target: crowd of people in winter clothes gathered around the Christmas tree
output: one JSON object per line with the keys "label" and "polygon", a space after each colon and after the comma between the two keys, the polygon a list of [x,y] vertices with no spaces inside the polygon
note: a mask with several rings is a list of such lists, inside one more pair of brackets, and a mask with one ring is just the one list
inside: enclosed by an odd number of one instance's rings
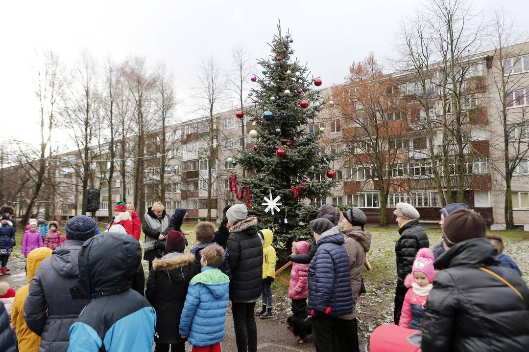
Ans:
{"label": "crowd of people in winter clothes gathered around the Christmas tree", "polygon": [[[15,222],[11,207],[0,212],[5,275]],[[416,208],[398,203],[394,215],[394,323],[403,334],[422,331],[426,352],[526,351],[529,291],[481,215],[460,203],[442,208],[443,241],[433,251]],[[31,219],[21,249],[29,283],[16,293],[0,284],[0,350],[183,352],[187,341],[193,351],[221,351],[231,301],[237,350],[256,351],[256,317],[274,315],[273,231],[235,204],[224,208],[218,230],[198,223],[197,243],[186,251],[186,217],[187,210],[169,216],[156,202],[140,221],[132,204],[120,202],[105,232],[79,215],[66,222],[66,237],[43,214]],[[372,239],[366,214],[325,204],[305,223],[312,243],[294,242],[288,257],[287,327],[299,343],[312,335],[318,352],[359,351],[355,305],[366,292],[362,268]]]}

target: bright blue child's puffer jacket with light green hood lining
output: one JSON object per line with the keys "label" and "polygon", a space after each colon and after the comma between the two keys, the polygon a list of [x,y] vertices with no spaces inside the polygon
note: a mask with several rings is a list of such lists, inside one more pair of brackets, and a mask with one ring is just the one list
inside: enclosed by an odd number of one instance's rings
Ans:
{"label": "bright blue child's puffer jacket with light green hood lining", "polygon": [[217,268],[203,267],[189,282],[186,303],[180,316],[180,335],[197,347],[224,340],[230,279]]}

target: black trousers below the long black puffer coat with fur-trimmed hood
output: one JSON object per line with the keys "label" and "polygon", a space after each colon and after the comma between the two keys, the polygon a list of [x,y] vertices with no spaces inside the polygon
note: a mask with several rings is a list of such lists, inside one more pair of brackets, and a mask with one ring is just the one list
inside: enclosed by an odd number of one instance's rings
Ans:
{"label": "black trousers below the long black puffer coat with fur-trimmed hood", "polygon": [[238,352],[257,351],[256,302],[232,302],[233,326]]}

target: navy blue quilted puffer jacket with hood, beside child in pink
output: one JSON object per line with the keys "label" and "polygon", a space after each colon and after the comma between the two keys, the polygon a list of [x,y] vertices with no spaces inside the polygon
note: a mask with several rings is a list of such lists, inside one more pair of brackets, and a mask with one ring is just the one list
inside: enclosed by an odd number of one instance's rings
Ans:
{"label": "navy blue quilted puffer jacket with hood, beside child in pink", "polygon": [[329,315],[333,317],[352,313],[349,257],[343,243],[344,237],[338,226],[318,238],[318,250],[308,265],[309,311],[324,312],[331,307]]}

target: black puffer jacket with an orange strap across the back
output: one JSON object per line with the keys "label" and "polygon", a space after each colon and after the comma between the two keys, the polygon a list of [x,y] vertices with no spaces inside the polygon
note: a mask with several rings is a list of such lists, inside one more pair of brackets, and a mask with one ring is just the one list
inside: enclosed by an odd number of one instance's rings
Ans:
{"label": "black puffer jacket with an orange strap across the back", "polygon": [[[436,260],[439,271],[422,320],[424,352],[527,351],[529,291],[511,269],[497,267],[486,239],[454,245]],[[497,273],[522,293],[479,267]]]}

